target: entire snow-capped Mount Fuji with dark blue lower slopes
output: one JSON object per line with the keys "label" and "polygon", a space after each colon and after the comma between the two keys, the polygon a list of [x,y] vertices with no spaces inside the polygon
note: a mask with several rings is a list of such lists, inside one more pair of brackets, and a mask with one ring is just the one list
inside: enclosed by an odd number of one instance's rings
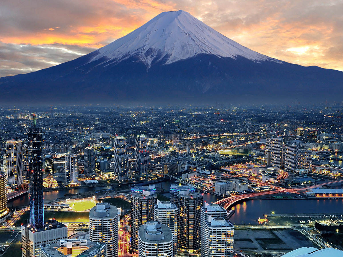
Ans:
{"label": "entire snow-capped Mount Fuji with dark blue lower slopes", "polygon": [[340,99],[343,72],[270,58],[180,10],[75,60],[2,77],[0,89],[11,103],[308,102]]}

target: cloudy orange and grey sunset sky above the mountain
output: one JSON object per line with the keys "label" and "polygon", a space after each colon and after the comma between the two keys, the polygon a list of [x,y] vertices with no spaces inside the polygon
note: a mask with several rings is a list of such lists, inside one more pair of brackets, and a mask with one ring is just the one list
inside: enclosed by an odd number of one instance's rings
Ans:
{"label": "cloudy orange and grey sunset sky above the mountain", "polygon": [[73,60],[180,9],[267,56],[343,71],[343,0],[1,0],[0,77]]}

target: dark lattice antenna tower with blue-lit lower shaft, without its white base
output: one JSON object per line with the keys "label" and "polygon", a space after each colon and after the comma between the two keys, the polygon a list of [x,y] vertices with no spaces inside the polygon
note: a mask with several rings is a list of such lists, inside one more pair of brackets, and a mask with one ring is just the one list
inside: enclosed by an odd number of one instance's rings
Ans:
{"label": "dark lattice antenna tower with blue-lit lower shaft, without its white base", "polygon": [[34,230],[44,230],[43,206],[43,145],[44,136],[41,127],[27,128],[27,163],[29,172],[30,223]]}

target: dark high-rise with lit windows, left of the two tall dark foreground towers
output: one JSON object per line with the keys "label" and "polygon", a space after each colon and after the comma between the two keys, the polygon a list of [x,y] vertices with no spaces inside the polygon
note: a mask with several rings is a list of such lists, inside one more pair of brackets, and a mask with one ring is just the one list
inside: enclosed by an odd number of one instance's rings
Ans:
{"label": "dark high-rise with lit windows, left of the two tall dark foreground towers", "polygon": [[146,221],[154,220],[157,204],[155,185],[131,187],[131,248],[138,250],[138,230]]}

